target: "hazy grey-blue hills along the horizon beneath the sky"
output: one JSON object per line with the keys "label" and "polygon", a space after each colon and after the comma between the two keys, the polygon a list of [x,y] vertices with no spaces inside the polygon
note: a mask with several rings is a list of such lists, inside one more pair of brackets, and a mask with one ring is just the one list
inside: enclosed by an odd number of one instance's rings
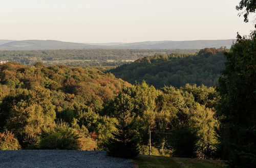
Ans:
{"label": "hazy grey-blue hills along the horizon beneath the sky", "polygon": [[0,40],[0,50],[44,50],[44,49],[201,49],[230,48],[229,40],[194,41],[146,41],[136,43],[72,43],[55,40]]}

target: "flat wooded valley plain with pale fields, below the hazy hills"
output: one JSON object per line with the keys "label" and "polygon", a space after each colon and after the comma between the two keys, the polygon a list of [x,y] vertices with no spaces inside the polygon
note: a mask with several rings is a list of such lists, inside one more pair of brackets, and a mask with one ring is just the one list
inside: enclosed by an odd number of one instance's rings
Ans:
{"label": "flat wooded valley plain with pale fields, below the hazy hills", "polygon": [[66,49],[66,50],[31,50],[31,51],[0,51],[0,61],[16,61],[24,65],[43,62],[45,65],[70,66],[117,66],[133,62],[140,57],[168,54],[195,53],[198,49]]}

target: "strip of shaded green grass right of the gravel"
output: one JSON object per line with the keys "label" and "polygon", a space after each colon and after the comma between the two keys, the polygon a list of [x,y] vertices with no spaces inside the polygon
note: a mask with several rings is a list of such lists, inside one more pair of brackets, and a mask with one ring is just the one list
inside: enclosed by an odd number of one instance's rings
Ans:
{"label": "strip of shaded green grass right of the gravel", "polygon": [[139,167],[226,167],[222,160],[191,159],[165,156],[139,155],[133,159]]}

